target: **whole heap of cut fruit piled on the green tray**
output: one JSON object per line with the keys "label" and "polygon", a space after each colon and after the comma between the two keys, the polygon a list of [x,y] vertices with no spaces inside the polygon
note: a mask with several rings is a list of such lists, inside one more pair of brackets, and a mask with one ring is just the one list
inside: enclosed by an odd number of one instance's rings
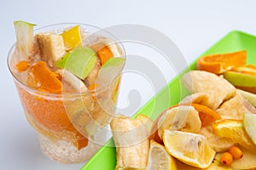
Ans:
{"label": "whole heap of cut fruit piled on the green tray", "polygon": [[183,74],[190,94],[154,122],[114,118],[116,169],[256,169],[256,67],[246,62],[246,51],[203,56]]}

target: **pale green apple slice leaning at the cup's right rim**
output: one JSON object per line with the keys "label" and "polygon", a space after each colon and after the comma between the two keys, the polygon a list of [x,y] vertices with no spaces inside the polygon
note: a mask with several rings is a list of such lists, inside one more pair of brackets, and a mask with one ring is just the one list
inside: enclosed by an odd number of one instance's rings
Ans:
{"label": "pale green apple slice leaning at the cup's right rim", "polygon": [[113,57],[108,59],[100,68],[96,84],[108,83],[119,76],[125,65],[125,58]]}

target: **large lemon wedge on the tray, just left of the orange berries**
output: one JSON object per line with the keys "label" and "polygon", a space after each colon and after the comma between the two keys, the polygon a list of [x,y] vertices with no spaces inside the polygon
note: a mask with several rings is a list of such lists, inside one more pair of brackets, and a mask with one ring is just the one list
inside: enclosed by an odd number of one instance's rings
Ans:
{"label": "large lemon wedge on the tray, just left of the orange berries", "polygon": [[163,140],[169,154],[193,167],[209,167],[216,153],[197,133],[165,130]]}

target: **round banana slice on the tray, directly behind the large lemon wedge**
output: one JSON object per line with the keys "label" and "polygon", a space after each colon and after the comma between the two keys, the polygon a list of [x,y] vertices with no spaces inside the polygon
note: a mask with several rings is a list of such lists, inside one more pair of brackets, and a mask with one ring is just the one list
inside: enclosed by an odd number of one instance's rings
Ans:
{"label": "round banana slice on the tray, directly behind the large lemon wedge", "polygon": [[158,135],[162,139],[164,130],[181,130],[189,133],[199,133],[201,120],[198,111],[189,105],[180,105],[169,110],[160,117]]}

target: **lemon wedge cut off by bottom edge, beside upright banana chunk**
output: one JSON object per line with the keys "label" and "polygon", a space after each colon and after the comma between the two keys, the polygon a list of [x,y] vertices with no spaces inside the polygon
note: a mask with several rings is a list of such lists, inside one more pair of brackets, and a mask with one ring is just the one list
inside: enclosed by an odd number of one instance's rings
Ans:
{"label": "lemon wedge cut off by bottom edge, beside upright banana chunk", "polygon": [[154,140],[151,140],[147,170],[155,169],[176,170],[177,166],[175,159],[167,153],[165,146],[158,144]]}

